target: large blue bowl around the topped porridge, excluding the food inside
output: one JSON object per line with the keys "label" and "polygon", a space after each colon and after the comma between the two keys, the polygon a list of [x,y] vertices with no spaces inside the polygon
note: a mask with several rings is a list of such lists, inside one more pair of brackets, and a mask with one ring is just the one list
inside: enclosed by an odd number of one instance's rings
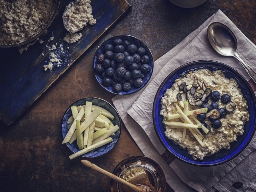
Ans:
{"label": "large blue bowl around the topped porridge, excluding the food inside", "polygon": [[[182,149],[178,145],[174,144],[172,140],[165,136],[165,126],[162,123],[163,116],[160,115],[161,111],[161,99],[164,96],[167,89],[171,88],[174,84],[174,80],[181,77],[182,75],[188,73],[189,71],[197,69],[208,69],[210,71],[221,70],[224,71],[226,78],[233,78],[237,81],[238,87],[247,100],[249,121],[244,124],[244,133],[237,137],[237,141],[231,143],[230,149],[221,149],[216,154],[211,156],[206,156],[203,160],[195,160],[191,155],[188,154],[186,149]],[[256,124],[256,98],[254,91],[250,87],[248,81],[236,70],[227,66],[226,64],[216,62],[216,61],[194,61],[185,64],[168,75],[165,80],[160,85],[154,99],[153,105],[153,122],[156,134],[161,141],[162,145],[176,158],[182,160],[183,162],[198,165],[198,166],[214,166],[219,165],[234,157],[238,156],[249,144],[255,133]]]}

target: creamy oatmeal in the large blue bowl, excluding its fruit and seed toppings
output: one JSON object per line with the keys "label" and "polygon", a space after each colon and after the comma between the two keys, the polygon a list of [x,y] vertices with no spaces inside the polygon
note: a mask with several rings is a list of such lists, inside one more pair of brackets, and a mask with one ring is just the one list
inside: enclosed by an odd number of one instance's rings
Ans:
{"label": "creamy oatmeal in the large blue bowl, excluding its fruit and seed toppings", "polygon": [[[206,69],[200,69],[193,72],[192,76],[188,74],[186,77],[180,78],[178,82],[175,82],[170,89],[167,89],[164,96],[162,97],[162,110],[160,112],[164,117],[166,115],[176,114],[176,107],[174,103],[177,103],[177,94],[180,93],[179,85],[182,82],[192,84],[194,80],[194,74],[200,79],[203,79],[209,88],[217,90],[220,94],[229,94],[231,101],[236,104],[236,109],[233,112],[228,112],[224,118],[221,118],[222,126],[219,129],[213,129],[210,121],[205,121],[208,126],[210,125],[210,133],[204,135],[203,143],[206,145],[202,147],[196,141],[194,136],[189,130],[186,132],[186,139],[181,143],[183,129],[170,128],[165,124],[165,135],[171,139],[174,143],[180,147],[187,149],[188,153],[193,156],[194,159],[203,159],[205,156],[215,154],[221,149],[229,149],[230,143],[237,140],[237,136],[244,133],[244,123],[249,120],[249,113],[247,111],[247,101],[243,97],[241,90],[238,88],[237,82],[234,79],[225,78],[222,71],[211,72]],[[213,81],[217,83],[215,85]],[[182,101],[186,101],[185,94],[182,93]],[[209,104],[212,101],[209,100]],[[224,107],[221,101],[218,101],[219,107]],[[200,108],[198,106],[189,106],[189,111]],[[192,122],[195,121],[190,117]],[[165,123],[165,118],[163,123]],[[173,119],[172,121],[180,121],[180,119]],[[197,124],[197,123],[195,123]]]}

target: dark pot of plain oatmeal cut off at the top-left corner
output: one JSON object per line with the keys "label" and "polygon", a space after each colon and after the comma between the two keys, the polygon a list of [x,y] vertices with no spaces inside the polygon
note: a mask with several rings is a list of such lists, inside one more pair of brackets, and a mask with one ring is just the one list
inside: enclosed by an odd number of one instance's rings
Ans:
{"label": "dark pot of plain oatmeal cut off at the top-left corner", "polygon": [[57,15],[60,0],[0,0],[0,47],[39,38]]}

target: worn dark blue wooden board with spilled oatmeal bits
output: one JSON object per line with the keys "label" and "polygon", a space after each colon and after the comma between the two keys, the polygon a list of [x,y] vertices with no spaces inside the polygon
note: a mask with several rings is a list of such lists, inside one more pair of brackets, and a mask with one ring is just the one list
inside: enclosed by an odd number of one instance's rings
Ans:
{"label": "worn dark blue wooden board with spilled oatmeal bits", "polygon": [[[19,53],[17,47],[0,49],[0,119],[7,125],[13,123],[48,89],[74,61],[82,55],[110,26],[131,7],[126,0],[91,0],[95,25],[87,25],[80,32],[81,39],[73,44],[63,41],[67,33],[61,15],[70,0],[61,0],[60,14],[50,26],[44,42],[35,42],[27,51]],[[50,37],[54,36],[51,41]],[[56,50],[49,47],[56,45]],[[62,48],[61,48],[62,46]],[[63,50],[62,50],[63,49]],[[54,63],[52,71],[44,71],[50,53],[56,53],[61,64]],[[91,67],[91,66],[88,66]]]}

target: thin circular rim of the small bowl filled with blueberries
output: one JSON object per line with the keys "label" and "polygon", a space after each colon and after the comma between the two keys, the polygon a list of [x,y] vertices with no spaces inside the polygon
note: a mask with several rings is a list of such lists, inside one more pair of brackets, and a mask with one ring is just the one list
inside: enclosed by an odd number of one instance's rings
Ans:
{"label": "thin circular rim of the small bowl filled with blueberries", "polygon": [[[137,40],[140,41],[143,45],[145,45],[145,47],[148,49],[148,51],[150,52],[150,55],[151,55],[151,57],[152,57],[152,73],[150,74],[150,77],[148,78],[148,80],[147,80],[147,82],[145,83],[145,85],[143,85],[142,87],[138,88],[138,89],[137,89],[136,91],[134,91],[134,92],[126,93],[126,94],[119,94],[119,93],[115,93],[115,92],[112,92],[112,91],[106,89],[106,88],[100,83],[100,81],[98,80],[98,78],[97,78],[97,76],[96,76],[96,73],[95,73],[95,70],[94,70],[94,60],[95,60],[96,54],[98,53],[98,51],[99,51],[99,49],[102,47],[102,45],[103,45],[104,43],[106,43],[107,41],[109,41],[109,40],[111,40],[111,39],[113,39],[113,38],[120,37],[120,36],[133,37],[133,38],[137,39]],[[116,36],[113,36],[113,37],[108,38],[107,40],[105,40],[105,41],[98,47],[98,49],[96,50],[96,52],[95,52],[95,54],[94,54],[94,57],[93,57],[93,73],[94,73],[95,78],[97,79],[97,81],[98,81],[98,83],[101,85],[101,87],[103,87],[103,88],[104,88],[105,90],[107,90],[109,93],[113,93],[113,94],[115,94],[115,95],[131,95],[131,94],[134,94],[134,93],[138,92],[138,91],[141,90],[143,87],[145,87],[145,86],[147,85],[147,83],[150,81],[150,79],[151,79],[151,77],[152,77],[152,74],[153,74],[153,71],[154,71],[154,59],[153,59],[152,52],[150,51],[150,49],[147,47],[147,45],[146,45],[143,41],[139,40],[137,37],[132,36],[132,35],[116,35]]]}

